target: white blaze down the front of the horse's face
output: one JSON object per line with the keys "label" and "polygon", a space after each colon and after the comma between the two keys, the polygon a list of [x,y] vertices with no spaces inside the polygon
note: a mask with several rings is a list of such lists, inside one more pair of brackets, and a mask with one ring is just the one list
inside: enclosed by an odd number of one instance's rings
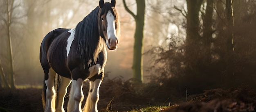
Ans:
{"label": "white blaze down the front of the horse's face", "polygon": [[108,39],[116,39],[116,27],[115,27],[115,17],[111,13],[111,11],[108,11],[107,16],[106,16],[107,22],[108,22],[108,27],[107,27],[107,33],[108,33]]}

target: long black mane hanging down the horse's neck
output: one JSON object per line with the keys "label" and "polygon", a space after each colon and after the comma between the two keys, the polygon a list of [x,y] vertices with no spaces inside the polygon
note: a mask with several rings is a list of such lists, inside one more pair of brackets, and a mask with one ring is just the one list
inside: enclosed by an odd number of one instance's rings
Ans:
{"label": "long black mane hanging down the horse's neck", "polygon": [[94,56],[94,52],[97,50],[100,40],[98,13],[99,7],[96,7],[88,16],[83,18],[75,28],[75,39],[77,39],[79,44],[77,52],[81,54],[80,58],[83,60],[83,65],[90,64],[91,61],[97,60],[97,56]]}

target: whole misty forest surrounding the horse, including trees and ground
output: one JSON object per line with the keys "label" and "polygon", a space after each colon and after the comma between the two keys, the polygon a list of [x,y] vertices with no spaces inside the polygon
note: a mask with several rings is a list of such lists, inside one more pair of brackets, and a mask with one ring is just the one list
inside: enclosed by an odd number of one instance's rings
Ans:
{"label": "whole misty forest surrounding the horse, including trees and ground", "polygon": [[[75,28],[98,5],[0,0],[0,112],[43,111],[44,36]],[[121,38],[108,51],[98,110],[255,112],[255,6],[256,0],[117,0]]]}

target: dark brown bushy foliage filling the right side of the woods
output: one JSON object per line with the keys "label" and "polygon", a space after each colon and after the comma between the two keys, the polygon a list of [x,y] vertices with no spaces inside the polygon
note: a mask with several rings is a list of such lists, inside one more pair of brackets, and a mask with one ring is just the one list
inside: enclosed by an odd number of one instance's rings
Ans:
{"label": "dark brown bushy foliage filling the right side of the woods", "polygon": [[[237,2],[234,2],[236,7],[233,28],[227,27],[226,11],[223,8],[225,4],[214,2],[216,12],[213,14],[213,34],[210,37],[200,36],[198,39],[186,40],[182,45],[177,44],[177,37],[172,37],[167,48],[155,47],[150,50],[148,54],[155,56],[152,60],[156,60],[150,68],[150,80],[175,88],[183,95],[186,94],[185,88],[191,94],[219,87],[237,87],[241,84],[256,89],[256,8],[253,7],[256,2]],[[234,32],[232,53],[227,51],[227,29]],[[202,33],[199,30],[199,34]],[[205,43],[205,38],[210,38],[210,44]],[[189,44],[186,44],[187,41]],[[232,63],[229,60],[233,60]],[[233,74],[229,74],[230,66]]]}

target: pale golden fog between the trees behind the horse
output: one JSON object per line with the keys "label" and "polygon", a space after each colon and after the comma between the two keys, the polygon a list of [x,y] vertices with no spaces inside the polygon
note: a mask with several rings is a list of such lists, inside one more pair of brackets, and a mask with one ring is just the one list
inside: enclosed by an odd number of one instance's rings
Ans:
{"label": "pale golden fog between the trees behind the horse", "polygon": [[[4,73],[8,74],[6,2],[7,0],[1,0],[0,2],[0,60],[2,61]],[[16,85],[40,85],[44,75],[39,62],[39,49],[44,36],[56,28],[73,29],[78,22],[98,6],[97,0],[9,0],[9,2],[11,9],[10,32],[14,60],[13,71]],[[105,2],[110,2],[110,0],[105,0]],[[135,1],[131,0],[127,3],[133,11],[136,10],[134,9]],[[121,1],[117,1],[116,8],[121,18],[121,38],[118,49],[108,51],[105,72],[108,78],[121,76],[124,80],[127,80],[132,78],[131,67],[135,22],[124,10]],[[148,17],[145,22],[158,24],[159,21],[151,18],[150,13],[152,11],[147,11],[147,13]],[[151,26],[145,26],[145,32],[153,30],[146,27]],[[166,37],[164,35],[166,34],[162,34],[163,36],[158,38],[152,38],[153,35],[145,33],[146,50],[150,49],[152,45],[159,45],[159,43],[162,44],[165,41]],[[155,40],[159,42],[155,42]],[[147,59],[146,56],[144,60],[147,61],[150,58]],[[147,65],[146,61],[145,65]]]}

